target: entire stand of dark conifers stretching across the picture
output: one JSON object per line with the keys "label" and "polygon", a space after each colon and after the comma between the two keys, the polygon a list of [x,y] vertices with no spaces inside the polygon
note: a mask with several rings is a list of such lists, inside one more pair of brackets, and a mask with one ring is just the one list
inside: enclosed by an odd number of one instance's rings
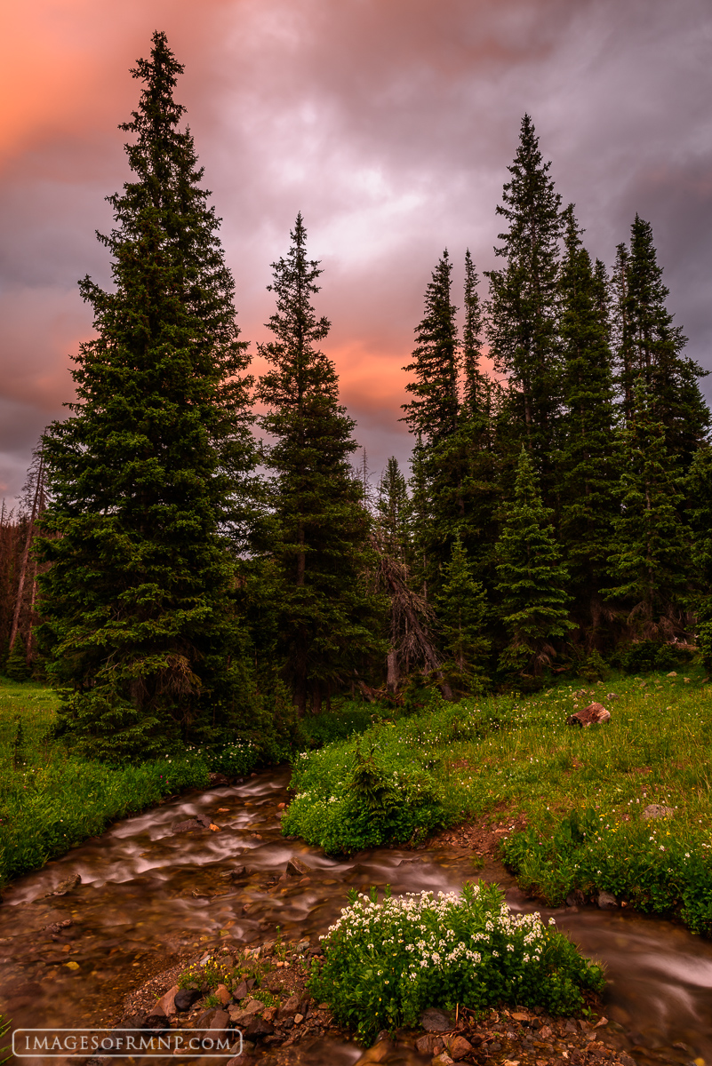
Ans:
{"label": "entire stand of dark conifers stretching across the picture", "polygon": [[48,681],[60,732],[122,760],[288,732],[344,694],[534,692],[693,646],[712,668],[706,371],[650,222],[594,261],[524,115],[497,269],[466,238],[432,263],[403,354],[411,464],[373,474],[296,210],[250,373],[181,72],[157,32],[99,236],[113,285],[81,281],[76,398],[3,505],[2,672]]}

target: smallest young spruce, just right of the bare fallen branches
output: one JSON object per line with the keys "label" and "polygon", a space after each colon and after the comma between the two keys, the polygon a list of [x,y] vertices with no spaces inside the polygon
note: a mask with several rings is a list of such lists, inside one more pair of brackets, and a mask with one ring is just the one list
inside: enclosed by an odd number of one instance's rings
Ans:
{"label": "smallest young spruce, just right of the bare fallen branches", "polygon": [[473,576],[458,534],[450,560],[442,567],[436,605],[442,633],[443,673],[453,692],[466,695],[481,691],[490,644],[484,631],[487,599]]}

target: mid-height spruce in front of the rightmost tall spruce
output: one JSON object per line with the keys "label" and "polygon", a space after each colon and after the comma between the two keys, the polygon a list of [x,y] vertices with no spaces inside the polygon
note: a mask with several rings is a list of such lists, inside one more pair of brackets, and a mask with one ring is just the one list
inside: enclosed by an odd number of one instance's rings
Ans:
{"label": "mid-height spruce in front of the rightmost tall spruce", "polygon": [[616,583],[603,595],[622,601],[633,633],[668,640],[680,623],[689,531],[679,518],[682,483],[667,452],[665,426],[642,379],[620,448],[621,513],[609,558]]}

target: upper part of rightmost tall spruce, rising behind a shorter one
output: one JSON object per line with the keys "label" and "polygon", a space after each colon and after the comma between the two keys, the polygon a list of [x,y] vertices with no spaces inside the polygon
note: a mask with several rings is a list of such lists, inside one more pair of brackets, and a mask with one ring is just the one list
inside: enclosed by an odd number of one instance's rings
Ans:
{"label": "upper part of rightmost tall spruce, rising behind a shorter one", "polygon": [[665,429],[665,445],[673,462],[683,470],[706,439],[710,413],[698,381],[706,375],[682,353],[686,344],[680,326],[667,310],[669,290],[652,240],[650,223],[638,215],[631,226],[630,252],[619,251],[618,282],[620,382],[630,419],[634,383],[645,383],[656,417]]}

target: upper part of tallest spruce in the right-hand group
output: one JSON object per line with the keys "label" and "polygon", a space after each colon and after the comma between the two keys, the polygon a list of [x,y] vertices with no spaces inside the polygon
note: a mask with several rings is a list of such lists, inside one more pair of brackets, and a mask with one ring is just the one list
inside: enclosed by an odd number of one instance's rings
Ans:
{"label": "upper part of tallest spruce in the right-hand group", "polygon": [[546,497],[552,490],[561,389],[557,280],[562,212],[550,166],[543,160],[534,124],[524,115],[519,147],[508,167],[512,178],[497,208],[507,228],[499,235],[503,243],[495,253],[506,265],[487,272],[491,355],[496,369],[508,377],[515,442],[527,445]]}

